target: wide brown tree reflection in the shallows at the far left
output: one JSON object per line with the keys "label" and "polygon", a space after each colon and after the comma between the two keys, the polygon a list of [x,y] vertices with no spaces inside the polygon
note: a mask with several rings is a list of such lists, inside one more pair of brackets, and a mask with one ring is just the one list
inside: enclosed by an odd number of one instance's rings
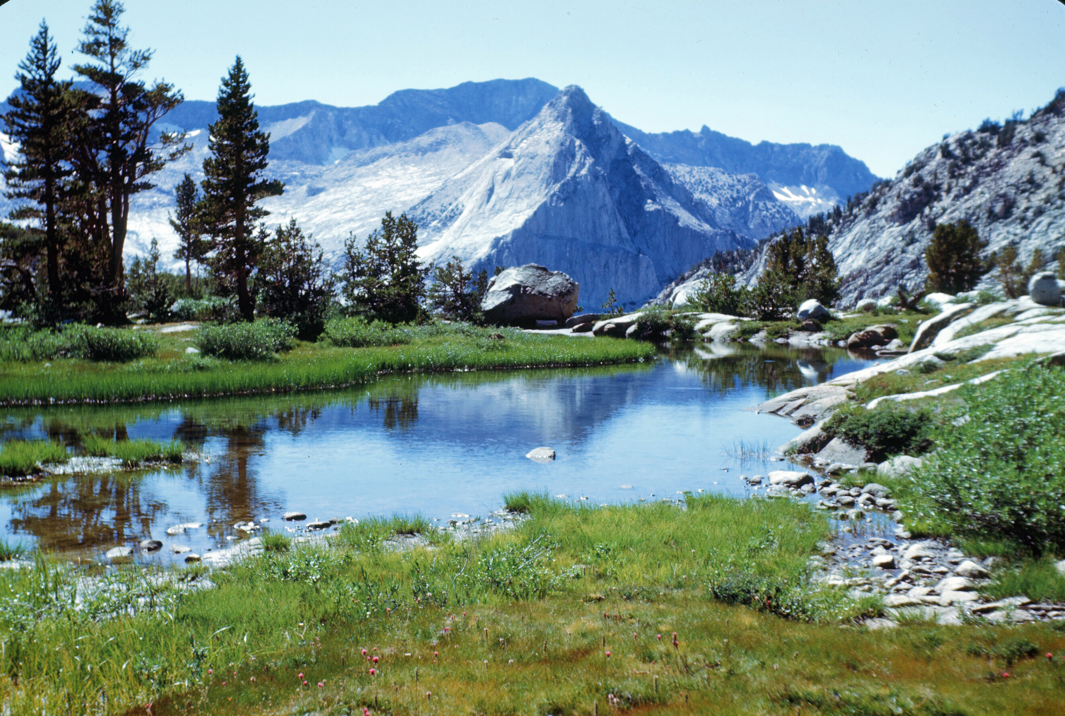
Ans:
{"label": "wide brown tree reflection in the shallows at the far left", "polygon": [[11,531],[33,535],[39,547],[56,551],[143,539],[167,505],[143,490],[142,482],[142,476],[81,476],[7,495]]}

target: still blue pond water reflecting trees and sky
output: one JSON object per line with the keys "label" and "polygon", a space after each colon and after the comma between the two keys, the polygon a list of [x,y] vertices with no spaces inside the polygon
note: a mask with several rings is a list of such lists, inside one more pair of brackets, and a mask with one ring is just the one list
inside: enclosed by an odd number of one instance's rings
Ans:
{"label": "still blue pond water reflecting trees and sky", "polygon": [[[739,440],[772,449],[800,429],[743,410],[869,365],[838,349],[705,346],[584,369],[386,378],[346,390],[136,406],[12,410],[2,439],[77,446],[88,432],[178,438],[208,460],[170,469],[55,477],[0,492],[9,540],[70,557],[161,539],[203,553],[232,546],[237,521],[485,515],[503,495],[546,490],[592,503],[747,494]],[[547,464],[525,457],[554,448]],[[166,528],[203,527],[179,536]]]}

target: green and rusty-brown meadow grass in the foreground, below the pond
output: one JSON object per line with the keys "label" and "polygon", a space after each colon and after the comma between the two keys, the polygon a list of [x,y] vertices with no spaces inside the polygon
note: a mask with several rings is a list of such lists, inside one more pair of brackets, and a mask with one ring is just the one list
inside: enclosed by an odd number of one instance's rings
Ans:
{"label": "green and rusty-brown meadow grass in the foreground, below the pond", "polygon": [[[364,520],[334,549],[291,544],[215,571],[211,590],[179,594],[143,567],[98,572],[111,588],[84,612],[70,609],[78,569],[38,555],[0,570],[0,699],[18,714],[84,700],[153,716],[1049,714],[1065,699],[1062,665],[1032,656],[1065,649],[1048,625],[979,642],[927,623],[840,629],[858,606],[805,582],[828,526],[803,504],[510,497],[528,513],[509,534],[395,551],[370,545],[431,526]],[[751,575],[829,610],[785,619],[726,603],[744,592],[722,577]]]}

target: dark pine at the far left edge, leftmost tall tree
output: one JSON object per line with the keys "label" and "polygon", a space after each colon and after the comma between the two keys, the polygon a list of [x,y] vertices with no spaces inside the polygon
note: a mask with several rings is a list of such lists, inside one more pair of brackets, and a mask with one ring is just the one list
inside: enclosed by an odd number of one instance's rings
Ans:
{"label": "dark pine at the far left edge, leftmost tall tree", "polygon": [[19,145],[19,154],[4,172],[11,190],[9,199],[28,199],[11,213],[13,219],[36,219],[44,228],[44,249],[47,261],[48,296],[54,306],[63,300],[60,277],[62,237],[60,203],[70,174],[67,157],[70,151],[73,106],[69,81],[58,81],[60,68],[55,46],[42,21],[37,34],[30,40],[30,53],[18,65],[15,78],[21,94],[9,100],[12,109],[4,115],[4,126],[11,139]]}

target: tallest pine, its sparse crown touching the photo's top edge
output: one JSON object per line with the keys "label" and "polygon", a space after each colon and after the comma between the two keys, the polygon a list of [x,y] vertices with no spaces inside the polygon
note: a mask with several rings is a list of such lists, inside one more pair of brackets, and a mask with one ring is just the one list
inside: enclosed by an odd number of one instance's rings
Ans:
{"label": "tallest pine, its sparse crown touching the photo's top edge", "polygon": [[[153,136],[155,122],[184,98],[171,84],[157,81],[147,87],[136,79],[147,68],[152,51],[129,47],[129,29],[119,24],[124,12],[118,0],[96,0],[78,45],[89,62],[73,67],[93,85],[91,90],[77,93],[87,131],[81,133],[73,160],[85,192],[92,195],[83,205],[92,214],[91,233],[103,245],[104,279],[113,298],[124,293],[122,250],[130,198],[152,188],[151,174],[191,149],[183,144],[184,134]],[[110,303],[112,310],[117,309],[115,301]]]}

